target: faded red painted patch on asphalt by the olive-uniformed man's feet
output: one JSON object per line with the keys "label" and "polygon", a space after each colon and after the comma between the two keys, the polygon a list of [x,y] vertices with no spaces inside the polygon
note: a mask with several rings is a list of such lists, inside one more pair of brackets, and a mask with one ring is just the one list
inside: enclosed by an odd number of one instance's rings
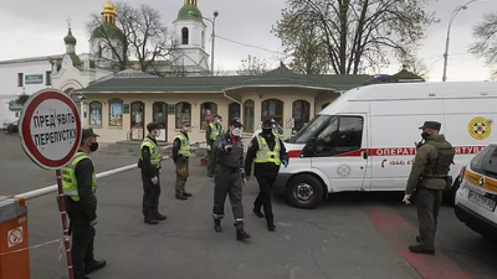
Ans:
{"label": "faded red painted patch on asphalt by the olive-uniformed man's feet", "polygon": [[398,213],[368,209],[367,216],[373,225],[381,231],[389,244],[409,262],[422,278],[472,278],[467,271],[459,267],[456,262],[450,260],[440,250],[436,251],[435,256],[411,253],[408,247],[415,243],[418,229]]}

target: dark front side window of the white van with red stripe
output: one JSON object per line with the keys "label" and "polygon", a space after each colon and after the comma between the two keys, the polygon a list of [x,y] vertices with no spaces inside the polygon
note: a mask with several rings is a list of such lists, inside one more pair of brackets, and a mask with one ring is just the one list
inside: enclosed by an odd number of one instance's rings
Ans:
{"label": "dark front side window of the white van with red stripe", "polygon": [[340,116],[317,137],[316,153],[319,156],[336,156],[361,148],[363,118]]}

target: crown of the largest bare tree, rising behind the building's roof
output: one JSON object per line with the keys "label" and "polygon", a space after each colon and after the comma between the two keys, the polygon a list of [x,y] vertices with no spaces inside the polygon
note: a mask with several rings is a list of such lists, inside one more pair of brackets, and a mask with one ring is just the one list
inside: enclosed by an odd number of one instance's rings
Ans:
{"label": "crown of the largest bare tree, rising behind the building's roof", "polygon": [[288,0],[273,32],[290,49],[302,47],[308,32],[326,48],[337,74],[358,74],[389,63],[388,53],[417,45],[426,25],[435,21],[424,6],[433,0]]}

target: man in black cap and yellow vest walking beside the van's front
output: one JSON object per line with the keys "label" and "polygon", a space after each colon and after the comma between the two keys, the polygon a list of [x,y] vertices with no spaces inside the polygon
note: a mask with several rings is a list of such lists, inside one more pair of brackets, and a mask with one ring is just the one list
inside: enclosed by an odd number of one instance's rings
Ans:
{"label": "man in black cap and yellow vest walking beside the van's front", "polygon": [[271,189],[280,171],[280,165],[282,163],[284,167],[288,165],[288,154],[286,154],[286,149],[281,139],[273,134],[273,123],[269,120],[262,123],[262,132],[252,138],[247,150],[245,172],[248,179],[251,175],[252,163],[255,163],[254,174],[257,178],[257,183],[259,183],[259,194],[253,204],[253,212],[259,218],[263,218],[261,207],[264,206],[267,228],[269,231],[274,231]]}

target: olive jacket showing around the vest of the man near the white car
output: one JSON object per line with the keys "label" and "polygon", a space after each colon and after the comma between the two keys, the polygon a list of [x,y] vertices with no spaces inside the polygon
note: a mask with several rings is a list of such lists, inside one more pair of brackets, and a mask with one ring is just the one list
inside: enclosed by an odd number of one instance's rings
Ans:
{"label": "olive jacket showing around the vest of the man near the white car", "polygon": [[[445,140],[445,136],[442,134],[428,136],[426,143],[416,150],[411,174],[407,180],[406,194],[413,194],[414,189],[420,183],[420,178],[433,172],[440,147],[451,147],[451,144]],[[423,187],[428,189],[443,190],[446,185],[447,180],[443,178],[425,178],[423,180]]]}

